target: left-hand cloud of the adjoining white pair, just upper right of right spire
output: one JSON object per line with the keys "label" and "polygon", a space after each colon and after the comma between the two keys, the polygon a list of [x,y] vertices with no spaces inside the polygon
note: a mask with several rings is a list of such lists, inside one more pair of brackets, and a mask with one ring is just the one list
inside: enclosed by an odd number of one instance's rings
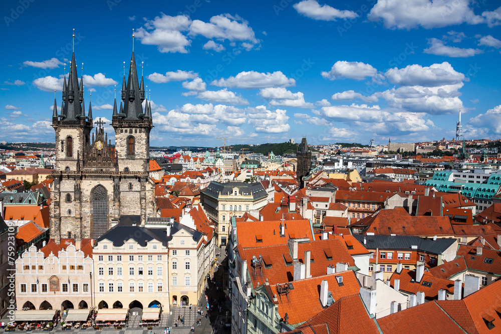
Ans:
{"label": "left-hand cloud of the adjoining white pair, just upper right of right spire", "polygon": [[175,17],[162,14],[153,20],[147,21],[144,28],[139,28],[135,36],[142,44],[156,45],[161,53],[188,53],[187,47],[191,41],[183,35],[187,31],[191,20],[187,16]]}

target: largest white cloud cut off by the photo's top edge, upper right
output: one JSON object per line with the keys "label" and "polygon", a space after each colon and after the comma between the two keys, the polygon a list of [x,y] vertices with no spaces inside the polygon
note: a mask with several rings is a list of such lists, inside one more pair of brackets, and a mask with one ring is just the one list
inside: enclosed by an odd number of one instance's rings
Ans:
{"label": "largest white cloud cut off by the photo's top edge, upper right", "polygon": [[469,7],[470,0],[379,0],[367,16],[370,21],[383,21],[387,29],[425,29],[484,21]]}

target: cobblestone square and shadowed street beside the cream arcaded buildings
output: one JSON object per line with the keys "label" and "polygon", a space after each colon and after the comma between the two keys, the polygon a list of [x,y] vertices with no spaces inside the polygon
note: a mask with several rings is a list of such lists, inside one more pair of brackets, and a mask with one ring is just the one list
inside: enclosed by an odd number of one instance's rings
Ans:
{"label": "cobblestone square and shadowed street beside the cream arcaded buildings", "polygon": [[[29,333],[33,334],[43,334],[43,333],[69,333],[69,334],[163,334],[165,327],[170,327],[171,334],[189,334],[191,332],[191,326],[194,327],[195,334],[203,333],[203,334],[212,334],[214,333],[214,329],[217,330],[217,334],[222,333],[230,333],[231,327],[226,326],[226,323],[230,323],[231,320],[231,309],[226,307],[226,300],[228,299],[228,260],[224,256],[224,248],[219,249],[216,247],[216,253],[220,252],[222,256],[217,256],[217,261],[219,262],[219,268],[216,269],[214,266],[214,272],[210,275],[210,280],[208,280],[208,285],[206,286],[205,294],[202,294],[202,297],[195,305],[192,305],[192,309],[189,309],[189,306],[173,306],[171,307],[171,312],[164,312],[160,317],[160,326],[153,327],[153,329],[143,329],[138,328],[136,322],[132,321],[129,323],[129,327],[125,329],[115,330],[114,328],[105,328],[102,330],[95,329],[75,329],[71,330],[62,330],[61,326],[58,325],[51,332],[44,332],[43,330],[32,330]],[[209,315],[206,317],[206,304],[205,295],[207,296],[209,305],[214,305],[212,310],[209,312]],[[221,311],[217,309],[217,304],[222,306]],[[200,310],[203,310],[203,316],[198,315],[198,307]],[[172,313],[172,314],[170,314]],[[177,317],[180,315],[184,316],[184,324],[180,321],[177,321]],[[200,325],[196,324],[196,319],[201,319]],[[7,316],[2,318],[4,322],[8,322],[9,319]],[[174,326],[174,323],[177,323],[177,326]],[[5,329],[0,329],[0,334],[4,334]],[[25,334],[27,331],[16,329],[14,333]]]}

